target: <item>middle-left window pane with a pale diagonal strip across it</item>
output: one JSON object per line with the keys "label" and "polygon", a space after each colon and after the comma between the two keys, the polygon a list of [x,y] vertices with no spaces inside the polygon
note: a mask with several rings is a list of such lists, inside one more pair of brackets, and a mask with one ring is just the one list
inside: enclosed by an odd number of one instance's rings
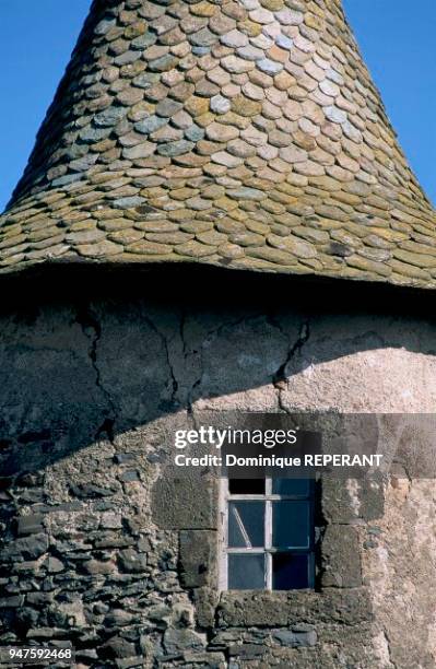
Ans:
{"label": "middle-left window pane with a pale diagonal strip across it", "polygon": [[264,503],[229,502],[229,548],[258,548],[264,541]]}

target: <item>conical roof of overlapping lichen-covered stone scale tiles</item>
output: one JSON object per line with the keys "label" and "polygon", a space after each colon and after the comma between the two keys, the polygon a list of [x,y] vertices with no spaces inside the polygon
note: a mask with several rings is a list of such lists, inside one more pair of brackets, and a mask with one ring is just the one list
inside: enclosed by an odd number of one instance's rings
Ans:
{"label": "conical roof of overlapping lichen-covered stone scale tiles", "polygon": [[97,0],[0,267],[203,262],[433,286],[435,212],[340,0]]}

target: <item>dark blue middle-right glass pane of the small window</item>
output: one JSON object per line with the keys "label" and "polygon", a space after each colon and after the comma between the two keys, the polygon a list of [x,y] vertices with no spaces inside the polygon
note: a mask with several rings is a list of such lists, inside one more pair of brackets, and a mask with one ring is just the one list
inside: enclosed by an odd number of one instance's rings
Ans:
{"label": "dark blue middle-right glass pane of the small window", "polygon": [[272,503],[272,545],[302,549],[310,547],[309,502]]}

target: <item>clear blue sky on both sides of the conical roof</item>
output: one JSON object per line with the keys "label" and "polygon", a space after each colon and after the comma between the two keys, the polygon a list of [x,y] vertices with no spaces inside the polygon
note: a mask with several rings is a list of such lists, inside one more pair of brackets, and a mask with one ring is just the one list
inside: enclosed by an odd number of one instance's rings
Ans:
{"label": "clear blue sky on both sides of the conical roof", "polygon": [[[91,0],[0,0],[0,211],[19,180]],[[344,0],[409,162],[436,202],[436,1]]]}

